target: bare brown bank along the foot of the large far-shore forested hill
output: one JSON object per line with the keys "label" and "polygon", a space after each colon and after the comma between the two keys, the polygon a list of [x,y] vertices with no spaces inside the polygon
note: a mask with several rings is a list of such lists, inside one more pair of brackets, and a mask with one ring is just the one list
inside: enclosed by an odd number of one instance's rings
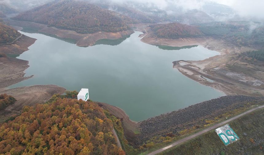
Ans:
{"label": "bare brown bank along the foot of the large far-shore forested hill", "polygon": [[62,30],[55,27],[50,27],[44,24],[38,24],[34,22],[24,22],[24,21],[14,21],[7,20],[12,26],[19,26],[25,28],[33,28],[38,30],[39,32],[53,34],[60,38],[69,38],[76,40],[77,46],[80,47],[88,47],[95,44],[97,40],[100,39],[120,39],[124,36],[133,34],[133,30],[120,31],[116,33],[112,32],[96,32],[93,34],[80,34],[73,30]]}

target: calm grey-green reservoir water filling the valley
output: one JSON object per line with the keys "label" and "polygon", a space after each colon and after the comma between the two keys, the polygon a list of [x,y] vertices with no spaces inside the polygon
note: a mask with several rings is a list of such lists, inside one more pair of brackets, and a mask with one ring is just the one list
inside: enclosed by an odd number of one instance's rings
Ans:
{"label": "calm grey-green reservoir water filling the valley", "polygon": [[91,100],[118,106],[134,121],[224,95],[173,69],[176,60],[219,54],[202,46],[163,50],[141,42],[142,33],[135,32],[126,39],[101,40],[84,48],[44,34],[21,33],[37,39],[18,57],[29,61],[25,76],[34,76],[10,88],[43,84],[77,91],[88,88]]}

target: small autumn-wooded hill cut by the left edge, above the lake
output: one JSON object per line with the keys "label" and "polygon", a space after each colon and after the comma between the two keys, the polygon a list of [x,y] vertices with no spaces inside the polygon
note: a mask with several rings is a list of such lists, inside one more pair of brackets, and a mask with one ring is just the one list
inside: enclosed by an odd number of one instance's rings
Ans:
{"label": "small autumn-wooded hill cut by the left edge, above the lake", "polygon": [[0,44],[12,42],[20,35],[17,30],[0,22]]}

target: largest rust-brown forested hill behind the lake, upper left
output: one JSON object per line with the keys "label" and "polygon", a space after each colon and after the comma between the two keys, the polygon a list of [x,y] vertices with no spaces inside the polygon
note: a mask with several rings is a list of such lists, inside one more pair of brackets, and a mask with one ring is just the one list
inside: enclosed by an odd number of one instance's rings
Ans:
{"label": "largest rust-brown forested hill behind the lake, upper left", "polygon": [[23,12],[14,19],[74,30],[78,33],[118,32],[129,29],[127,24],[133,22],[128,16],[75,0],[50,2]]}

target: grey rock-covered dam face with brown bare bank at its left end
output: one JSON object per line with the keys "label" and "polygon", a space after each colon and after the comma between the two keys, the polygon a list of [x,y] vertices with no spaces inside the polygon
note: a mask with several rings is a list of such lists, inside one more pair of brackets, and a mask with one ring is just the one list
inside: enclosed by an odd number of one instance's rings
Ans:
{"label": "grey rock-covered dam face with brown bare bank at its left end", "polygon": [[[114,105],[101,102],[97,102],[97,104],[121,120],[126,139],[129,143],[138,147],[152,137],[164,136],[168,133],[177,135],[178,132],[184,129],[203,124],[205,120],[214,119],[227,111],[231,112],[239,108],[250,108],[248,107],[248,102],[252,102],[254,105],[262,105],[263,101],[263,97],[243,95],[223,96],[151,117],[140,122],[131,121],[121,108]],[[136,134],[135,131],[140,132]]]}

